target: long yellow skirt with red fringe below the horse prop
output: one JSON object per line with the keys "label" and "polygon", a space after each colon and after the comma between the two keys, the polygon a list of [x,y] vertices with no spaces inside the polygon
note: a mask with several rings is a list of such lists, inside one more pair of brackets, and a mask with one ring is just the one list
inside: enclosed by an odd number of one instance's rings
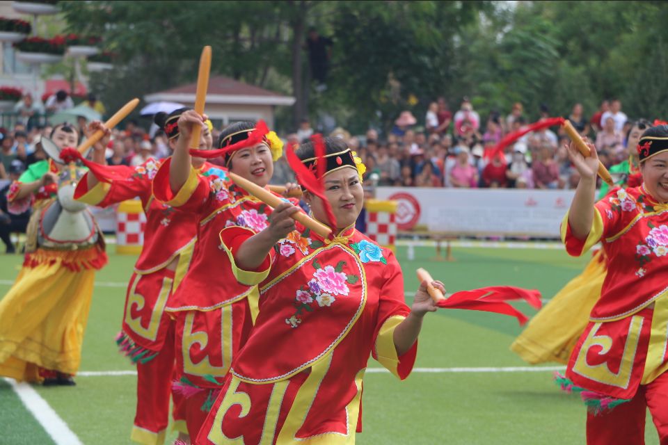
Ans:
{"label": "long yellow skirt with red fringe below the horse prop", "polygon": [[38,366],[77,373],[97,268],[91,260],[102,266],[106,255],[95,247],[26,256],[0,300],[0,375],[38,381]]}

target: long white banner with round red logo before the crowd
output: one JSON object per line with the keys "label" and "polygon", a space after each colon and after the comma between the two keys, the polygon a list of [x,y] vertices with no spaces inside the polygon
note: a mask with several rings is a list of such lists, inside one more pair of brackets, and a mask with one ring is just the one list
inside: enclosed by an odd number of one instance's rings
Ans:
{"label": "long white banner with round red logo before the crowd", "polygon": [[379,187],[376,199],[397,200],[399,230],[468,235],[559,237],[574,190]]}

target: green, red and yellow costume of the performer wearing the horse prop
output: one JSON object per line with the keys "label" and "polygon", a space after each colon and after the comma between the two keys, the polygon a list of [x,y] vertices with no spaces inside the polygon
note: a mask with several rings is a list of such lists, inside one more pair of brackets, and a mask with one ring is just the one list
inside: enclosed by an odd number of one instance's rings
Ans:
{"label": "green, red and yellow costume of the performer wearing the horse prop", "polygon": [[53,212],[57,184],[17,199],[21,183],[38,181],[46,172],[58,173],[53,161],[31,165],[8,193],[10,211],[33,207],[23,268],[0,301],[0,375],[19,381],[77,373],[95,270],[107,261],[102,232],[90,214],[88,233],[81,233],[81,239],[63,242],[49,237],[44,216],[49,210],[49,215],[58,213]]}

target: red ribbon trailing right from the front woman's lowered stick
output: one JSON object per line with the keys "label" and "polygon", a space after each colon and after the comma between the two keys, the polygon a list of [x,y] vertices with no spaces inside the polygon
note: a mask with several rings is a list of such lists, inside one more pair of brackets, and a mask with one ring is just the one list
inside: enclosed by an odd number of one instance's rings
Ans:
{"label": "red ribbon trailing right from the front woman's lowered stick", "polygon": [[472,291],[455,292],[436,305],[444,309],[467,309],[514,316],[520,325],[529,318],[507,303],[509,300],[524,300],[536,309],[541,308],[541,293],[514,286],[490,286]]}

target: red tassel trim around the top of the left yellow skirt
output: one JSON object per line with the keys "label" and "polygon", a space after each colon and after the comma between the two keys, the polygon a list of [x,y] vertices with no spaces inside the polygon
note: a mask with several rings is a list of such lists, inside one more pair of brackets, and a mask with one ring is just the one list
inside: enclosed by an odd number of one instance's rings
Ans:
{"label": "red tassel trim around the top of the left yellow skirt", "polygon": [[46,250],[38,249],[35,252],[26,253],[23,266],[35,268],[42,264],[54,266],[58,264],[72,272],[81,272],[81,270],[95,269],[100,270],[106,266],[109,257],[99,246],[82,250]]}

